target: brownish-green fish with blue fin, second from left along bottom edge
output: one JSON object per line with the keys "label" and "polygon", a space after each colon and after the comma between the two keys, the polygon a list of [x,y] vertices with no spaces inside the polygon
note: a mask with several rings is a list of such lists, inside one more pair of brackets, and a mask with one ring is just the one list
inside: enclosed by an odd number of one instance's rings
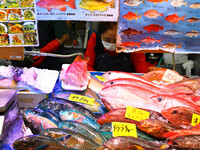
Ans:
{"label": "brownish-green fish with blue fin, second from left along bottom edge", "polygon": [[[82,133],[72,130],[49,128],[42,131],[40,134],[51,136],[54,139],[59,139],[67,147],[78,150],[98,150],[100,145],[96,144],[92,139]],[[69,137],[70,136],[70,137]]]}

